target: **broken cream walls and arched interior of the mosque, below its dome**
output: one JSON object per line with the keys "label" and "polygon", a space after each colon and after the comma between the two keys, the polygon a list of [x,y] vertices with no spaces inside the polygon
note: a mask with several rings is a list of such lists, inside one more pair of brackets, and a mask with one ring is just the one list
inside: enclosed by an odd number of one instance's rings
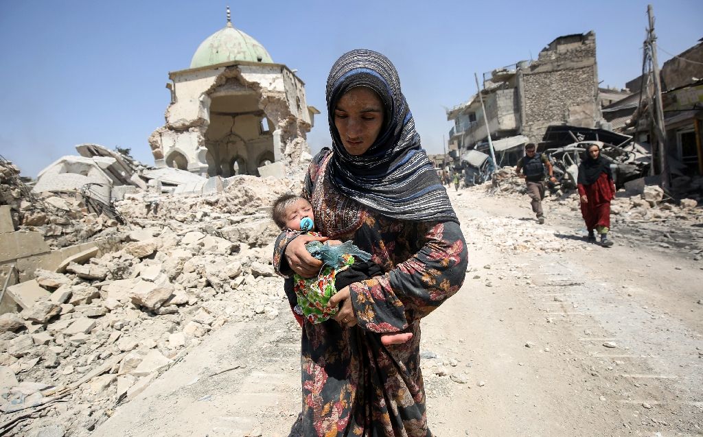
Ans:
{"label": "broken cream walls and arched interior of the mosque, below its dome", "polygon": [[[311,129],[311,119],[304,84],[283,65],[241,63],[185,70],[172,73],[171,77],[174,101],[166,111],[166,124],[149,138],[157,165],[186,161],[188,171],[212,176],[214,169],[220,174],[219,169],[239,159],[245,162],[248,174],[255,174],[264,159],[283,161],[289,174],[306,164],[306,133]],[[244,99],[242,96],[247,95],[257,102],[257,108],[242,111],[245,117],[257,118],[248,127],[239,115],[218,117],[210,113],[215,99]],[[233,122],[229,132],[223,133],[223,119],[227,117]],[[258,120],[262,117],[269,120],[270,129],[259,133]],[[213,130],[209,131],[211,126]],[[254,134],[252,126],[256,127]]]}

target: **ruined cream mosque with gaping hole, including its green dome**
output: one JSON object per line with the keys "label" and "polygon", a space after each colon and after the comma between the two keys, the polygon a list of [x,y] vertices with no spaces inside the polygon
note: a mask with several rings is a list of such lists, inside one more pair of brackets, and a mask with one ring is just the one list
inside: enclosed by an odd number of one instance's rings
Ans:
{"label": "ruined cream mosque with gaping hole, including its green dome", "polygon": [[285,176],[307,166],[306,133],[319,112],[307,106],[294,72],[233,27],[229,8],[227,25],[169,79],[166,124],[149,137],[157,167],[228,177]]}

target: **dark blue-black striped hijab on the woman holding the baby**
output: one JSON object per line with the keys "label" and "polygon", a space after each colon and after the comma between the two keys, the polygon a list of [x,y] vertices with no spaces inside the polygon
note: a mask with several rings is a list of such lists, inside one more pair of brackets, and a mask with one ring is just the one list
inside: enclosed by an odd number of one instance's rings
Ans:
{"label": "dark blue-black striped hijab on the woman holding the baby", "polygon": [[[344,149],[334,119],[337,102],[356,86],[375,91],[385,108],[378,138],[359,156]],[[327,79],[327,112],[334,152],[330,180],[344,195],[390,218],[458,223],[446,190],[420,145],[398,73],[388,58],[364,49],[344,53]]]}

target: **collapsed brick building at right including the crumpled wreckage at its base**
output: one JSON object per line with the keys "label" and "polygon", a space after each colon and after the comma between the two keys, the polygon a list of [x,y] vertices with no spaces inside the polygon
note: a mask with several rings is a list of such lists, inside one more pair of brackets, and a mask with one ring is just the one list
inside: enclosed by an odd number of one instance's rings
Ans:
{"label": "collapsed brick building at right including the crumpled wreckage at its base", "polygon": [[619,183],[638,178],[649,169],[647,148],[612,132],[612,123],[603,119],[610,105],[631,96],[628,90],[598,87],[593,32],[558,37],[538,59],[484,75],[480,95],[447,111],[447,119],[454,122],[449,150],[455,170],[463,173],[467,185],[488,180],[495,170],[488,159],[490,135],[496,167],[515,166],[524,145],[536,143],[548,155],[556,154],[552,161],[557,175],[574,185],[583,142],[597,141],[608,148]]}

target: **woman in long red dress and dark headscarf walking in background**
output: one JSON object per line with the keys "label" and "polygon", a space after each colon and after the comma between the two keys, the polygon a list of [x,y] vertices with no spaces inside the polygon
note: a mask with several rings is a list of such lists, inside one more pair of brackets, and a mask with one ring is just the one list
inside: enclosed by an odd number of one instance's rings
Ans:
{"label": "woman in long red dress and dark headscarf walking in background", "polygon": [[579,196],[581,215],[586,221],[588,242],[595,242],[595,232],[600,234],[600,245],[610,247],[610,201],[615,197],[615,183],[610,170],[610,162],[600,156],[600,147],[592,144],[586,149],[583,161],[579,164]]}

